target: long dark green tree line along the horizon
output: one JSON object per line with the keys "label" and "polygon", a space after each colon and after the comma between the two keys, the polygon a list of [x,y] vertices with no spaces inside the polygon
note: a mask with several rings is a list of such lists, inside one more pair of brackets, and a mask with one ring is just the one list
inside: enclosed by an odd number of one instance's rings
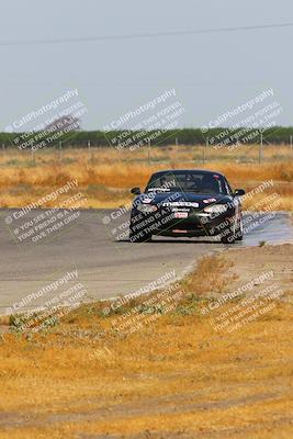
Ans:
{"label": "long dark green tree line along the horizon", "polygon": [[[149,143],[153,146],[166,146],[166,145],[203,145],[206,142],[210,144],[224,143],[226,145],[235,144],[236,142],[243,142],[247,144],[257,144],[261,139],[263,144],[290,144],[293,138],[293,127],[281,127],[274,126],[272,128],[262,130],[247,130],[247,128],[211,128],[206,132],[202,132],[200,128],[182,128],[182,130],[170,130],[164,133],[160,132],[127,132],[127,131],[112,131],[104,133],[102,131],[77,131],[64,133],[54,133],[50,136],[50,142],[47,142],[46,146],[57,147],[63,144],[64,147],[88,147],[89,143],[93,147],[113,147],[117,146],[117,138],[131,139],[133,144],[136,140],[133,138],[140,138],[145,142],[146,137],[150,138]],[[53,138],[54,137],[54,138]],[[41,139],[48,139],[48,135],[42,132],[37,133],[0,133],[0,145],[3,147],[19,147],[23,145],[21,149],[31,148],[32,145],[37,144]],[[45,143],[44,143],[45,145]]]}

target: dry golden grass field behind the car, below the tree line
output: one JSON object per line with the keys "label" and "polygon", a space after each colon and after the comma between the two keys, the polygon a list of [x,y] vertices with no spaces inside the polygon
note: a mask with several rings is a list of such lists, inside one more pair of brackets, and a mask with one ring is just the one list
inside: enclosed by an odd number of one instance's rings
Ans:
{"label": "dry golden grass field behind the car, below the tree line", "polygon": [[[267,147],[261,165],[236,161],[237,150],[225,153],[213,148],[209,149],[209,161],[203,164],[202,150],[203,147],[153,148],[150,164],[144,149],[135,153],[98,149],[92,160],[89,160],[87,150],[67,149],[61,161],[53,150],[38,151],[34,164],[27,153],[7,151],[0,157],[0,205],[21,207],[77,179],[78,188],[71,192],[81,191],[87,195],[86,207],[116,207],[131,201],[129,189],[134,185],[144,188],[155,171],[205,168],[224,172],[234,188],[244,187],[247,191],[272,179],[274,185],[266,194],[275,192],[280,195],[278,210],[293,210],[293,151],[288,147]],[[258,147],[249,147],[246,160],[257,160],[257,155]],[[260,195],[247,201],[245,207],[253,209],[259,199]],[[61,201],[64,198],[47,203],[47,206],[58,206]]]}

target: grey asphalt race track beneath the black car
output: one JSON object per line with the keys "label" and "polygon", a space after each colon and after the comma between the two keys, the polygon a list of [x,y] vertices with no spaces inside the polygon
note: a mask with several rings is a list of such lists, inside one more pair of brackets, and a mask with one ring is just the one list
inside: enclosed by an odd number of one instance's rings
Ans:
{"label": "grey asphalt race track beneath the black car", "polygon": [[[15,312],[14,304],[23,297],[67,273],[75,273],[67,285],[80,282],[87,290],[83,300],[113,297],[137,291],[166,273],[170,280],[182,277],[201,256],[229,247],[205,238],[155,237],[151,243],[129,243],[123,225],[127,213],[117,219],[111,219],[112,211],[106,210],[66,214],[34,210],[20,217],[21,213],[0,210],[0,315]],[[60,219],[56,219],[57,214]],[[249,214],[245,217],[250,225],[255,221]],[[46,229],[37,227],[45,221]],[[244,241],[233,247],[256,246],[261,240],[293,241],[288,214],[259,214],[256,221],[258,225],[250,227]],[[22,311],[40,306],[49,294],[23,303]]]}

